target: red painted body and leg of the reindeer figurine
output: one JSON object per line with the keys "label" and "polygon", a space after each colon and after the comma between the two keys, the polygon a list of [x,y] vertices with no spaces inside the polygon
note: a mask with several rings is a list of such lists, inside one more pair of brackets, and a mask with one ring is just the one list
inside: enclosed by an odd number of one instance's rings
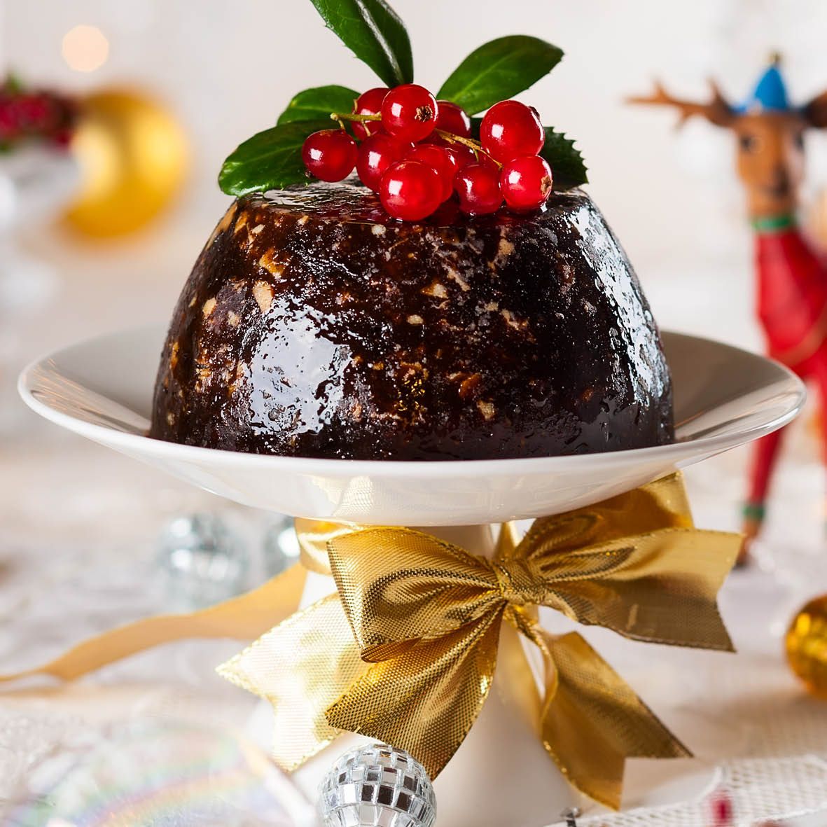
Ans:
{"label": "red painted body and leg of the reindeer figurine", "polygon": [[[815,385],[827,410],[827,266],[796,227],[758,232],[755,253],[767,353]],[[824,416],[822,427],[827,429]],[[753,506],[762,506],[767,496],[782,437],[777,431],[755,447],[748,500]]]}

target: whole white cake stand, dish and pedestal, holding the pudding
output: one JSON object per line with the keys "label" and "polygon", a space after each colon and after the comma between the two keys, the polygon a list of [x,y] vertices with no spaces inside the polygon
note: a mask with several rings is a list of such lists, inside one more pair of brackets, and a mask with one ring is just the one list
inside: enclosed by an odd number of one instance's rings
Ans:
{"label": "whole white cake stand, dish and pedestal, holding the pudding", "polygon": [[[146,437],[164,337],[159,325],[58,351],[23,372],[22,397],[64,428],[239,503],[310,519],[428,527],[486,555],[493,552],[490,523],[556,514],[618,495],[781,428],[805,399],[801,381],[775,362],[667,332],[677,425],[672,445],[485,461],[265,457]],[[312,576],[304,603],[332,588],[332,581]],[[437,779],[442,825],[540,827],[578,800],[496,688],[495,676],[480,719]],[[340,739],[308,762],[296,773],[299,786],[314,796],[347,743]]]}

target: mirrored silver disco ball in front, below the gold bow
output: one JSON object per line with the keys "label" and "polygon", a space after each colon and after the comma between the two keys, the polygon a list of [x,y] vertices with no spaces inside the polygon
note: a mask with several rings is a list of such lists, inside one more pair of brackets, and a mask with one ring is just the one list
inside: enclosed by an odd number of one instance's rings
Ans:
{"label": "mirrored silver disco ball in front, below the gold bow", "polygon": [[319,787],[325,827],[432,827],[428,773],[403,749],[370,743],[342,755]]}

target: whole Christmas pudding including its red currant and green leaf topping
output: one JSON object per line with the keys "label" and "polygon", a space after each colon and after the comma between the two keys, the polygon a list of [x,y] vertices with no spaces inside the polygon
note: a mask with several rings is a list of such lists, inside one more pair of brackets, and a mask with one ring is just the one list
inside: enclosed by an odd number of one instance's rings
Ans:
{"label": "whole Christmas pudding including its red currant and green leaf topping", "polygon": [[358,32],[337,3],[317,8],[388,86],[306,89],[227,158],[237,198],[175,308],[151,434],[372,460],[670,442],[657,326],[576,189],[586,167],[536,109],[500,99],[562,51],[490,41],[433,95],[389,7]]}

